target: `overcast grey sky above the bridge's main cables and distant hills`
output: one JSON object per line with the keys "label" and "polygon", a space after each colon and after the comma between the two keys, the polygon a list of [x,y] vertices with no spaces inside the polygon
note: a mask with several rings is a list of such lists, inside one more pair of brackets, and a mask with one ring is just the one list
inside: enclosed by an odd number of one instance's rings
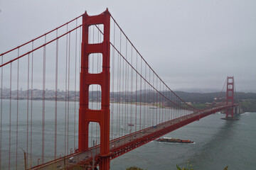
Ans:
{"label": "overcast grey sky above the bridge's main cables and distant hills", "polygon": [[256,92],[255,0],[0,0],[0,53],[107,7],[171,89]]}

